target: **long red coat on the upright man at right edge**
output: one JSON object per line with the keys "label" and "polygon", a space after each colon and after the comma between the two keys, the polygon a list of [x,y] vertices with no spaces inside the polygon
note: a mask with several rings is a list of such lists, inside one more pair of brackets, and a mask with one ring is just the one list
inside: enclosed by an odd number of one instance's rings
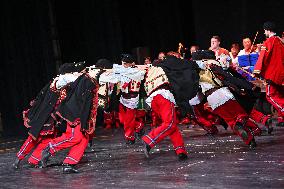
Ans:
{"label": "long red coat on the upright man at right edge", "polygon": [[275,84],[284,85],[284,44],[279,37],[272,36],[263,43],[254,73]]}

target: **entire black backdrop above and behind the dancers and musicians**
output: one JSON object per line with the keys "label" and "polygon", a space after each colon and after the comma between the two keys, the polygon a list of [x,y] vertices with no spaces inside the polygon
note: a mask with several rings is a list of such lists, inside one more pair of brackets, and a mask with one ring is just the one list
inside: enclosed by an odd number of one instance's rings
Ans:
{"label": "entire black backdrop above and behind the dancers and musicians", "polygon": [[229,49],[259,31],[261,43],[267,20],[277,23],[278,33],[284,31],[284,3],[277,0],[3,0],[0,5],[4,136],[26,135],[22,110],[63,62],[117,62],[121,53],[142,47],[154,58],[159,51],[176,51],[179,42],[207,49],[212,35]]}

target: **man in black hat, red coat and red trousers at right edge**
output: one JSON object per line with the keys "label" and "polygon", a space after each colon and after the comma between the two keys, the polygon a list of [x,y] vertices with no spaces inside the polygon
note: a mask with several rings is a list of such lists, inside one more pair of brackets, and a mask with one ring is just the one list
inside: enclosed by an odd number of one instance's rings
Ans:
{"label": "man in black hat, red coat and red trousers at right edge", "polygon": [[276,36],[274,23],[265,22],[263,29],[267,39],[261,47],[254,74],[267,81],[266,98],[278,112],[279,125],[284,125],[284,41]]}

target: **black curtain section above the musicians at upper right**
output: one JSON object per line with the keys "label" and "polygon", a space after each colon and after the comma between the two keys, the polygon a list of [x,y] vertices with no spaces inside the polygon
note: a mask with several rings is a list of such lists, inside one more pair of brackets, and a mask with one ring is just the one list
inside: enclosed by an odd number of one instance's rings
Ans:
{"label": "black curtain section above the musicians at upper right", "polygon": [[277,24],[277,34],[284,31],[284,1],[278,0],[220,0],[192,1],[194,12],[195,43],[202,49],[210,47],[213,35],[221,37],[221,46],[230,50],[232,43],[239,43],[249,37],[252,41],[258,31],[256,43],[265,40],[262,25],[266,21]]}

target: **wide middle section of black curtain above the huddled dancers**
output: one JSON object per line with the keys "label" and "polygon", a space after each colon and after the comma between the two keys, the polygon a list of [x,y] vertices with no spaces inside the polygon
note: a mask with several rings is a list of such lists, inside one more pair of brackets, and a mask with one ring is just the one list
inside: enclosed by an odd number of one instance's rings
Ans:
{"label": "wide middle section of black curtain above the huddled dancers", "polygon": [[[99,58],[119,61],[121,53],[147,47],[151,56],[177,50],[194,36],[191,5],[174,0],[55,1],[63,61]],[[190,3],[190,2],[189,2]]]}

